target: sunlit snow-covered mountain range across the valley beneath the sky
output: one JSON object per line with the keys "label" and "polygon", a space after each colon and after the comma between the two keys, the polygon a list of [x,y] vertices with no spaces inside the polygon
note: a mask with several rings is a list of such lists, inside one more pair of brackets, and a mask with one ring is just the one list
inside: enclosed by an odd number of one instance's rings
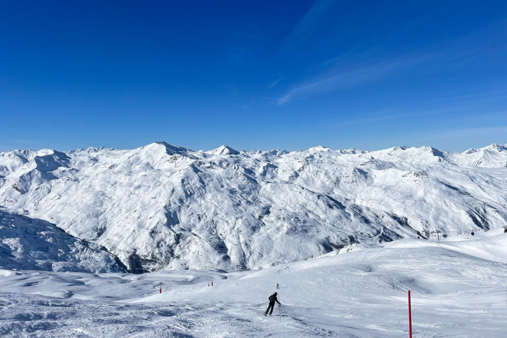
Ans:
{"label": "sunlit snow-covered mountain range across the valley beneath the sky", "polygon": [[343,247],[507,223],[507,150],[194,152],[165,142],[0,154],[0,205],[131,271],[258,269]]}

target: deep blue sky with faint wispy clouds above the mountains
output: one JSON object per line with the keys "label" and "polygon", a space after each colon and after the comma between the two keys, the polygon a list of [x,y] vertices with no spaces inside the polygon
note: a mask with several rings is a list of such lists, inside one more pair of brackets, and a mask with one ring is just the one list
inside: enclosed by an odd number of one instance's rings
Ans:
{"label": "deep blue sky with faint wispy clouds above the mountains", "polygon": [[0,151],[507,143],[507,1],[2,1]]}

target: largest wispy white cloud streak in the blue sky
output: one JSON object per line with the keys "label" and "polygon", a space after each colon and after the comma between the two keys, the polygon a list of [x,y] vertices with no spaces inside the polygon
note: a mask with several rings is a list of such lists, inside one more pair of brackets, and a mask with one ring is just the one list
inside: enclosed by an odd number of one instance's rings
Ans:
{"label": "largest wispy white cloud streak in the blue sky", "polygon": [[409,69],[427,61],[431,56],[413,56],[396,58],[378,63],[362,64],[355,67],[331,67],[323,74],[307,82],[296,85],[285,95],[278,98],[279,105],[313,95],[357,87]]}

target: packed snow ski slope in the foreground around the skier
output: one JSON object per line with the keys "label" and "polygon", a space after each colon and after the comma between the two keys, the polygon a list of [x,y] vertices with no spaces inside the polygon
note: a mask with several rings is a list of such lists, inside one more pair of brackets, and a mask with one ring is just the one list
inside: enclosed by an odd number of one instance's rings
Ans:
{"label": "packed snow ski slope in the foreground around the skier", "polygon": [[[260,271],[4,269],[0,335],[406,337],[411,290],[414,337],[504,337],[506,248],[500,228],[353,244]],[[265,317],[275,291],[281,307]]]}

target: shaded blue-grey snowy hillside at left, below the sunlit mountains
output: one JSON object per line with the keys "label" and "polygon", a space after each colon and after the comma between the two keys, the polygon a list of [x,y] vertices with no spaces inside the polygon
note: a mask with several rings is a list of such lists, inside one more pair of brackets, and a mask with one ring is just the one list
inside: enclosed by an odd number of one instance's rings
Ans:
{"label": "shaded blue-grey snowy hillside at left, below the sunlit mountains", "polygon": [[117,257],[75,238],[54,224],[0,207],[0,268],[75,272],[122,272]]}

